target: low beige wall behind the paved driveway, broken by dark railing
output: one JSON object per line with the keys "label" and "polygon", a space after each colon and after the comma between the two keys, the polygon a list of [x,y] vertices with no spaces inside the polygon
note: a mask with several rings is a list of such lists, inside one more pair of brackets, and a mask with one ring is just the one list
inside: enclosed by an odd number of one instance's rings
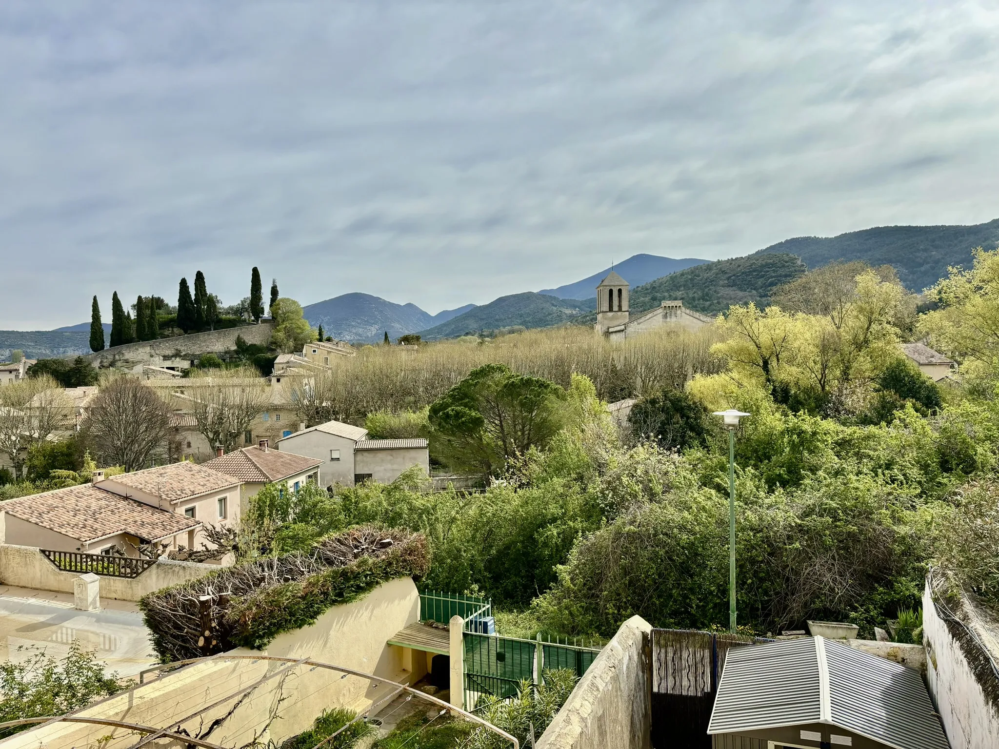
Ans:
{"label": "low beige wall behind the paved driveway, broken by dark railing", "polygon": [[[146,593],[218,569],[216,564],[161,560],[135,578],[101,575],[101,597],[137,601]],[[0,583],[4,585],[72,593],[73,581],[79,576],[78,572],[57,568],[37,548],[0,544]]]}

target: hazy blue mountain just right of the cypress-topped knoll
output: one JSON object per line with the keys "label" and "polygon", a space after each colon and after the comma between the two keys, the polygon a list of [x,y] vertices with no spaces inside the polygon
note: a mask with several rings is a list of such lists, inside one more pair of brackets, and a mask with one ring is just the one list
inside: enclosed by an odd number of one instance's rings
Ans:
{"label": "hazy blue mountain just right of the cypress-topped knoll", "polygon": [[431,315],[414,304],[397,305],[381,297],[354,293],[317,302],[303,312],[313,328],[322,325],[328,336],[343,341],[379,342],[386,331],[390,338],[396,339],[445,323],[474,307],[466,305]]}

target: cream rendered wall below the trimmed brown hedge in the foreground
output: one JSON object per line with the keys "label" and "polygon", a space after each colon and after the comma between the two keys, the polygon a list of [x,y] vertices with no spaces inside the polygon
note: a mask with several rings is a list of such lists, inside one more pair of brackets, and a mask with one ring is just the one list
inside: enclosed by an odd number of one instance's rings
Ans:
{"label": "cream rendered wall below the trimmed brown hedge in the foreground", "polygon": [[[311,656],[365,673],[405,680],[401,648],[386,645],[420,614],[420,597],[413,580],[392,580],[354,603],[335,606],[308,627],[279,635],[267,654]],[[232,653],[259,654],[238,649]],[[300,666],[254,687],[254,683],[285,668],[286,663],[266,660],[207,661],[167,674],[121,695],[92,705],[80,715],[162,727],[180,721],[240,689],[244,695],[182,723],[189,734],[223,746],[253,742],[280,744],[309,728],[324,709],[352,707],[364,710],[389,694],[367,679],[327,669]],[[99,743],[100,741],[100,743]],[[24,731],[0,742],[3,749],[72,749],[101,746],[124,749],[137,741],[130,731],[107,726],[56,724]],[[179,743],[157,746],[182,749]]]}

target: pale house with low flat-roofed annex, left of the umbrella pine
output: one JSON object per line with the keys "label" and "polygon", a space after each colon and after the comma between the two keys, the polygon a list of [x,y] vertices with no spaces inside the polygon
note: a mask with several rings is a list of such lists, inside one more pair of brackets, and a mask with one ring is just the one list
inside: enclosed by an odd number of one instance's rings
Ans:
{"label": "pale house with low flat-roofed annex, left of the umbrella pine", "polygon": [[321,460],[323,486],[354,486],[368,479],[391,483],[414,465],[430,473],[426,439],[368,439],[367,429],[342,421],[297,431],[282,438],[278,448]]}

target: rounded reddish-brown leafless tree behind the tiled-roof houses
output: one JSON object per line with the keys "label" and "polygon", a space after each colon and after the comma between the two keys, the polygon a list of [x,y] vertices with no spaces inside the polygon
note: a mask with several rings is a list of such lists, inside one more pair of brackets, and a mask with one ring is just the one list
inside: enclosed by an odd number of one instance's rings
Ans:
{"label": "rounded reddish-brown leafless tree behind the tiled-roof houses", "polygon": [[94,398],[82,431],[102,464],[148,467],[168,453],[170,406],[141,380],[118,377]]}

